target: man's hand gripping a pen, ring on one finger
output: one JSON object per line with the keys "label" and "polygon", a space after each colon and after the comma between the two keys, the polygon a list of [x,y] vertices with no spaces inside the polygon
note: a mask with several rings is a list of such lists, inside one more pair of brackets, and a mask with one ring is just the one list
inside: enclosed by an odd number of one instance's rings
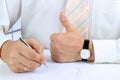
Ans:
{"label": "man's hand gripping a pen, ring on one finger", "polygon": [[1,58],[13,72],[29,72],[45,62],[44,47],[34,39],[26,39],[28,47],[20,40],[6,41],[1,48]]}

